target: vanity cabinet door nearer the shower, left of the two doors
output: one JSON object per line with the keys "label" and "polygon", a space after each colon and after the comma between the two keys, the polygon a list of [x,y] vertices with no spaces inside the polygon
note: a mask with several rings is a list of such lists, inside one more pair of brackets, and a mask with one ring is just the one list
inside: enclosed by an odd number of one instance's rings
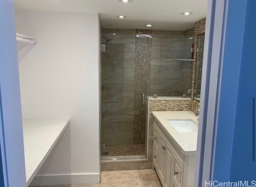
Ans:
{"label": "vanity cabinet door nearer the shower, left of the two doors", "polygon": [[158,174],[160,180],[164,182],[164,159],[166,152],[166,145],[163,136],[159,135],[159,149],[158,149]]}

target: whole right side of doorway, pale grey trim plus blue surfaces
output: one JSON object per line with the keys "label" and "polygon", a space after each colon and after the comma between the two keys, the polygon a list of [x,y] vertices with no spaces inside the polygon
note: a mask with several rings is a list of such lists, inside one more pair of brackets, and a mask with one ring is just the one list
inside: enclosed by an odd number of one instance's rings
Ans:
{"label": "whole right side of doorway, pale grey trim plus blue surfaces", "polygon": [[255,9],[256,0],[208,0],[195,187],[256,180]]}

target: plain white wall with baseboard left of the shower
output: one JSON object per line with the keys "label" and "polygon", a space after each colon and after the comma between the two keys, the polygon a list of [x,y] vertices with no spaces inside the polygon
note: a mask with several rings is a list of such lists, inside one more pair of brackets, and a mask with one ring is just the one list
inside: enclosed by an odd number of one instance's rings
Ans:
{"label": "plain white wall with baseboard left of the shower", "polygon": [[23,118],[71,118],[32,184],[99,183],[99,16],[15,13]]}

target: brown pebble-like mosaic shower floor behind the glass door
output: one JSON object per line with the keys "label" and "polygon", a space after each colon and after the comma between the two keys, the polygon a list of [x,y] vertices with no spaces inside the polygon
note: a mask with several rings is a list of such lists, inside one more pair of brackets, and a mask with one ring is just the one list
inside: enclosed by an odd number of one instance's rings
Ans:
{"label": "brown pebble-like mosaic shower floor behind the glass door", "polygon": [[106,145],[102,157],[146,155],[145,144]]}

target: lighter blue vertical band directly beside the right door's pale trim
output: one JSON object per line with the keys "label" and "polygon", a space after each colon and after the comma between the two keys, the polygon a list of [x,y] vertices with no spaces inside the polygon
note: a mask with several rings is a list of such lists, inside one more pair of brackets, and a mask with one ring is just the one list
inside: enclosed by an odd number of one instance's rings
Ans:
{"label": "lighter blue vertical band directly beside the right door's pale trim", "polygon": [[218,181],[228,181],[230,176],[237,92],[244,37],[246,1],[247,0],[230,0],[228,5],[223,74],[221,81],[221,98],[214,162],[214,180]]}

